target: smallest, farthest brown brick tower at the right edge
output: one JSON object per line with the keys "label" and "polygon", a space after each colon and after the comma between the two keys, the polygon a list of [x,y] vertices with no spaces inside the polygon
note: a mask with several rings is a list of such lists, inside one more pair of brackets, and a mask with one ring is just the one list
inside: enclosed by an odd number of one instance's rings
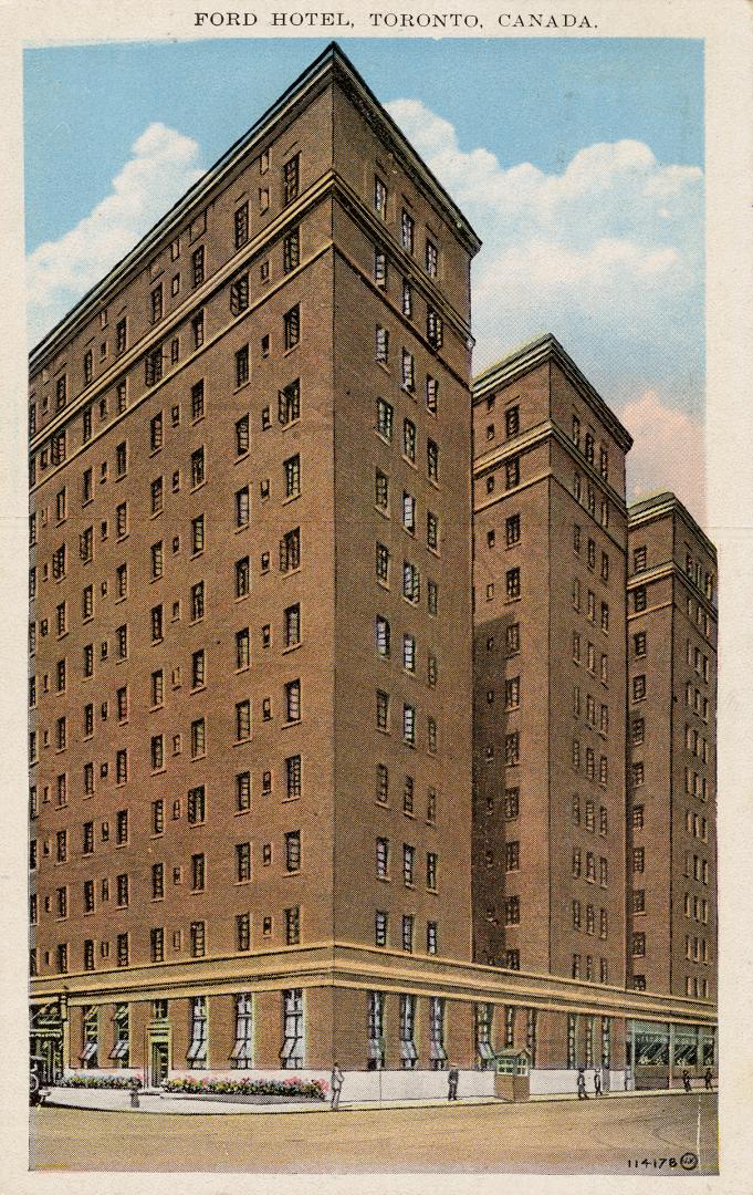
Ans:
{"label": "smallest, farthest brown brick tower at the right edge", "polygon": [[716,549],[673,494],[628,543],[628,982],[715,1001]]}

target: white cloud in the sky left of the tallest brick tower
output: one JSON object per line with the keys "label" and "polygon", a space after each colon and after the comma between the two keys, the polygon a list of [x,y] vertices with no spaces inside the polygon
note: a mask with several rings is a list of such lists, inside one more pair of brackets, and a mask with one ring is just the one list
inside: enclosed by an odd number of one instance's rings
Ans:
{"label": "white cloud in the sky left of the tallest brick tower", "polygon": [[203,173],[200,148],[165,124],[149,124],[113,178],[110,194],[60,240],[26,263],[29,332],[36,343],[107,272]]}

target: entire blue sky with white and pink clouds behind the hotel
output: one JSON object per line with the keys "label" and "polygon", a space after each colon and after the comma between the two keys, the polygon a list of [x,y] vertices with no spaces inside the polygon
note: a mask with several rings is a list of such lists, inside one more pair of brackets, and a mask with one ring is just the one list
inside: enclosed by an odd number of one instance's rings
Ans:
{"label": "entire blue sky with white and pink clouds behind the hotel", "polygon": [[[326,44],[25,51],[30,343]],[[342,48],[483,241],[474,369],[554,332],[635,437],[629,501],[673,489],[703,520],[702,43],[348,38]]]}

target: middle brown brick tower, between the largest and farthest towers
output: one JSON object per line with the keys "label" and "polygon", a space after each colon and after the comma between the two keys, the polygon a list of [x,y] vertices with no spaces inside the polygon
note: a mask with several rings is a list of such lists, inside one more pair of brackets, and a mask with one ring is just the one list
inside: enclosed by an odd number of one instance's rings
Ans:
{"label": "middle brown brick tower, between the largest and farthest towers", "polygon": [[630,445],[553,336],[475,380],[475,957],[587,983],[625,972]]}

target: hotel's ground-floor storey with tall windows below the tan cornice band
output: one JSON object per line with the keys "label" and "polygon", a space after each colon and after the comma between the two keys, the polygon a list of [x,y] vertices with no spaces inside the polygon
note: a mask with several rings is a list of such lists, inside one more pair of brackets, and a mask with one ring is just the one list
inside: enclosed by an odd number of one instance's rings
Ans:
{"label": "hotel's ground-floor storey with tall windows below the tan cornice band", "polygon": [[444,1096],[451,1070],[467,1096],[493,1095],[499,1071],[525,1074],[531,1095],[575,1091],[579,1070],[591,1086],[598,1073],[604,1091],[716,1073],[706,1009],[691,1018],[680,1007],[683,1019],[668,1000],[653,1007],[642,998],[634,1009],[634,993],[550,978],[511,982],[498,973],[483,986],[477,973],[486,970],[465,968],[473,991],[455,975],[432,983],[431,974],[408,969],[360,982],[303,968],[276,982],[206,975],[161,985],[159,994],[154,982],[126,986],[113,976],[100,989],[82,983],[64,998],[39,1000],[31,1052],[49,1060],[48,1081],[137,1078],[153,1089],[242,1077],[328,1083],[337,1064],[358,1099]]}

